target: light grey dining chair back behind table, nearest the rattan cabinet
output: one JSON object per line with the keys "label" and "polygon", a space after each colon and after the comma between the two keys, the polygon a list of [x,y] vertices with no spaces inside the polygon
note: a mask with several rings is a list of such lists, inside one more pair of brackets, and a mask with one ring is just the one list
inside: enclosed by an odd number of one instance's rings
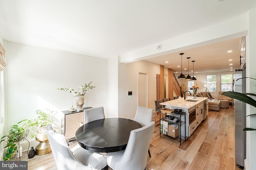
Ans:
{"label": "light grey dining chair back behind table, nearest the rattan cabinet", "polygon": [[103,107],[96,107],[84,110],[84,122],[89,123],[98,119],[105,119]]}

